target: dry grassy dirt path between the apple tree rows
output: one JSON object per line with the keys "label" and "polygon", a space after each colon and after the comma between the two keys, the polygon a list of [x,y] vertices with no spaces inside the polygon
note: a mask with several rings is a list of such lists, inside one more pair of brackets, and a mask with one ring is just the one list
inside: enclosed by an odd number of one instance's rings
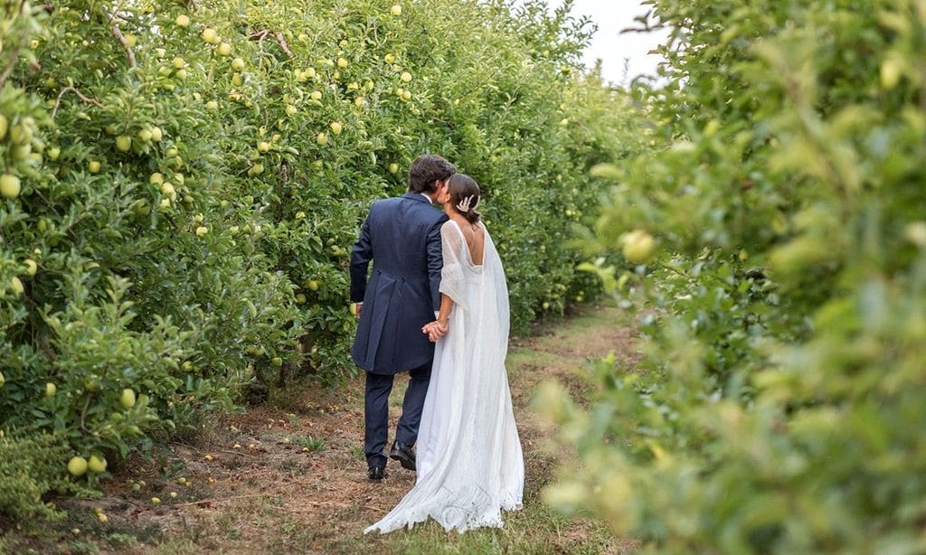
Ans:
{"label": "dry grassy dirt path between the apple tree rows", "polygon": [[[542,488],[568,455],[546,445],[549,430],[532,412],[531,395],[543,380],[556,378],[582,396],[575,371],[609,351],[632,357],[632,345],[625,316],[611,307],[583,308],[512,341],[507,369],[527,480],[524,509],[507,513],[504,529],[448,534],[430,521],[410,532],[362,534],[412,487],[414,473],[390,462],[382,483],[366,479],[357,379],[337,391],[302,391],[288,409],[269,403],[222,416],[200,437],[165,447],[154,462],[123,463],[102,499],[69,501],[69,522],[55,524],[47,539],[59,552],[628,552],[632,541],[541,502]],[[406,383],[405,376],[396,379],[391,431]],[[153,504],[153,497],[161,502]]]}

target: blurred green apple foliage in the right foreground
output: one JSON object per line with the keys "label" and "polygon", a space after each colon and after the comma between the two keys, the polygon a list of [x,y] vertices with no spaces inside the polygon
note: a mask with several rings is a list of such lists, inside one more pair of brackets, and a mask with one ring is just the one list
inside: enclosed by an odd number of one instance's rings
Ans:
{"label": "blurred green apple foliage in the right foreground", "polygon": [[541,406],[584,464],[547,499],[644,550],[926,549],[926,5],[656,0],[653,148],[615,182],[594,268],[644,360]]}

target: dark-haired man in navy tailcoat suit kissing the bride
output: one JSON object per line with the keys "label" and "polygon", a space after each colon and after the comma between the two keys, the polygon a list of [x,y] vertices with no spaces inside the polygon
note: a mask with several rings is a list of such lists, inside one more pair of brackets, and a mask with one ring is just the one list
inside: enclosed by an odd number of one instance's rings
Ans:
{"label": "dark-haired man in navy tailcoat suit kissing the bride", "polygon": [[410,379],[389,456],[415,470],[412,448],[434,357],[421,327],[441,304],[441,226],[447,221],[432,203],[456,171],[441,156],[419,156],[408,171],[408,191],[373,203],[351,253],[350,299],[360,319],[351,354],[367,371],[364,452],[370,480],[385,473],[389,392],[394,376],[404,371]]}

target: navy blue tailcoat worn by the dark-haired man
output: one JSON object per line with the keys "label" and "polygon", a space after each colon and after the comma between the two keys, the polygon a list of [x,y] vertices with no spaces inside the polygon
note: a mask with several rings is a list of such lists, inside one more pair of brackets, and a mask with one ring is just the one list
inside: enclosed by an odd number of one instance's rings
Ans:
{"label": "navy blue tailcoat worn by the dark-haired man", "polygon": [[443,212],[415,192],[370,207],[350,257],[350,298],[363,302],[351,350],[357,366],[396,374],[432,361],[434,344],[421,327],[441,306],[445,221]]}

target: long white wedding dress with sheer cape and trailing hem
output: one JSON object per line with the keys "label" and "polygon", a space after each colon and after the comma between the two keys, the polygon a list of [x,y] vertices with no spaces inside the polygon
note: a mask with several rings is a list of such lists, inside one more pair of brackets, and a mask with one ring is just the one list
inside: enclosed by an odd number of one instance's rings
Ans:
{"label": "long white wedding dress with sheer cape and trailing hem", "polygon": [[508,290],[492,238],[479,225],[485,233],[482,265],[472,263],[456,222],[441,228],[441,292],[455,305],[450,330],[434,351],[417,481],[364,533],[410,528],[429,516],[446,530],[501,527],[503,510],[520,509],[524,458],[505,370]]}

